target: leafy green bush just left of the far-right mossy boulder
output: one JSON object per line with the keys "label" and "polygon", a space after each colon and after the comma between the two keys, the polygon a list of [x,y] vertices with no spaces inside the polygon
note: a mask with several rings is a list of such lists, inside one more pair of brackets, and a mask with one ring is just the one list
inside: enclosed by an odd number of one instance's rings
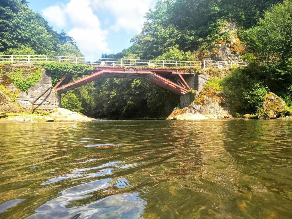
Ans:
{"label": "leafy green bush just left of the far-right mossy boulder", "polygon": [[246,92],[243,92],[243,98],[246,100],[246,109],[251,112],[259,112],[265,96],[270,92],[267,86],[263,86],[262,83],[254,84]]}

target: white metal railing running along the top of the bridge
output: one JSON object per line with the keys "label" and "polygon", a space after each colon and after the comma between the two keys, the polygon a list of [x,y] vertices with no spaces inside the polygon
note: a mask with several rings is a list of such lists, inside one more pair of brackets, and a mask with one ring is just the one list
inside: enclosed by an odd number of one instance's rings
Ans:
{"label": "white metal railing running along the top of the bridge", "polygon": [[246,62],[224,62],[204,60],[173,61],[173,60],[142,60],[142,59],[112,59],[112,58],[86,58],[55,55],[0,55],[0,62],[11,63],[37,63],[37,62],[67,62],[74,64],[98,65],[102,67],[132,66],[132,67],[185,67],[185,68],[228,68],[246,66]]}

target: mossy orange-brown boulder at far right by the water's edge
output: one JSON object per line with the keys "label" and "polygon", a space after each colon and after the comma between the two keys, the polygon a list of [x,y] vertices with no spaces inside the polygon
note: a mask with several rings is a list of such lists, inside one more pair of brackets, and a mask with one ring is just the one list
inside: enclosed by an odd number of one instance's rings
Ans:
{"label": "mossy orange-brown boulder at far right by the water's edge", "polygon": [[274,93],[265,96],[258,119],[276,119],[281,111],[286,109],[286,103]]}

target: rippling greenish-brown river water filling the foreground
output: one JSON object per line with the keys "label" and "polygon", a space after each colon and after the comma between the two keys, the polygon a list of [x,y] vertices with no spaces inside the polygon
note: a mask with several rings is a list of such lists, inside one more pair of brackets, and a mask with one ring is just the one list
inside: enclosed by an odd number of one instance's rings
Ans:
{"label": "rippling greenish-brown river water filling the foreground", "polygon": [[0,124],[0,218],[291,218],[292,121]]}

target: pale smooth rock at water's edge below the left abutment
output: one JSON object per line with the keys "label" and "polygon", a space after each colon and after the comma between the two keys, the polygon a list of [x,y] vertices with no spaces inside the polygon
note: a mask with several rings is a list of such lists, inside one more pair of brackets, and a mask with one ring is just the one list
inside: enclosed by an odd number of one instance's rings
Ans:
{"label": "pale smooth rock at water's edge below the left abutment", "polygon": [[50,116],[55,118],[56,122],[87,122],[95,120],[64,108],[56,109]]}

